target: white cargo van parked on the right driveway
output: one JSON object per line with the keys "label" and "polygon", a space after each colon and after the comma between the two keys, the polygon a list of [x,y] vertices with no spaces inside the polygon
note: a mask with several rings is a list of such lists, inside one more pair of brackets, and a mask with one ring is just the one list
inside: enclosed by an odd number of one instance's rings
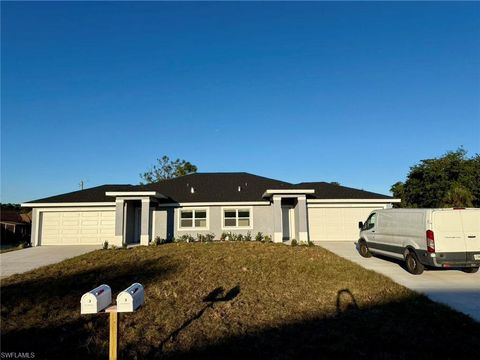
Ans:
{"label": "white cargo van parked on the right driveway", "polygon": [[382,209],[358,225],[360,255],[401,259],[412,274],[425,266],[468,273],[480,266],[480,209]]}

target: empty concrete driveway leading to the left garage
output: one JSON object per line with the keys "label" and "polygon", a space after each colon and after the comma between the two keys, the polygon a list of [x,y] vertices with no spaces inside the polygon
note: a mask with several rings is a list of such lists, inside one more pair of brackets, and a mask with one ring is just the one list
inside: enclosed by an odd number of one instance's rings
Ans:
{"label": "empty concrete driveway leading to the left garage", "polygon": [[0,278],[55,264],[100,248],[100,245],[44,245],[10,251],[0,254]]}

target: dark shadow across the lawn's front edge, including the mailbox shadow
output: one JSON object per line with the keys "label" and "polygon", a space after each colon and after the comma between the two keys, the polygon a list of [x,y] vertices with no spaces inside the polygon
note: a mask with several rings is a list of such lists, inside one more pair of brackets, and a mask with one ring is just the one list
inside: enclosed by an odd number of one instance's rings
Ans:
{"label": "dark shadow across the lawn's front edge, including the mailbox shadow", "polygon": [[[180,331],[185,332],[184,338],[195,339],[199,334],[189,333],[191,328],[188,325],[202,316],[206,309],[233,299],[239,291],[239,288],[234,288],[222,296],[223,289],[215,289],[205,297],[203,310],[166,335],[165,341],[172,341],[169,352],[162,352],[158,344],[145,343],[142,336],[139,336],[138,343],[125,348],[120,335],[120,358],[453,359],[476,358],[478,355],[480,324],[468,317],[421,295],[361,308],[348,289],[339,290],[337,299],[332,299],[332,303],[338,306],[337,313],[330,316],[312,314],[303,320],[266,325],[260,329],[244,324],[241,333],[206,340],[201,344],[192,341],[189,346],[175,341]],[[104,329],[107,329],[107,318],[105,316],[100,324]],[[58,326],[8,333],[5,339],[9,341],[2,344],[2,351],[34,351],[39,359],[104,359],[107,348],[105,344],[98,345],[100,337],[106,340],[108,333],[105,331],[94,338],[89,337],[89,325],[83,319],[76,319]]]}

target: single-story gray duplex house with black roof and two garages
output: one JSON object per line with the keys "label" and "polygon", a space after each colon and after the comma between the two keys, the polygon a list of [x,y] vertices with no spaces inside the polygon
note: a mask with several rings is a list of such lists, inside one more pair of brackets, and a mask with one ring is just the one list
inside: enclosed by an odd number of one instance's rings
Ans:
{"label": "single-story gray duplex house with black roof and two garages", "polygon": [[148,185],[103,185],[22,204],[32,245],[147,245],[155,237],[257,232],[275,242],[357,240],[358,222],[390,196],[249,173],[195,173]]}

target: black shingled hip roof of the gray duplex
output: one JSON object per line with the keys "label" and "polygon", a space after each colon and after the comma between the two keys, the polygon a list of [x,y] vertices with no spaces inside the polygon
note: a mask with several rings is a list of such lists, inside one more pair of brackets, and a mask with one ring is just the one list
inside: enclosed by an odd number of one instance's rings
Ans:
{"label": "black shingled hip roof of the gray duplex", "polygon": [[[194,189],[192,193],[192,187]],[[240,187],[240,191],[239,191]],[[165,195],[162,203],[261,201],[267,189],[314,189],[309,198],[317,199],[392,199],[390,196],[352,189],[325,182],[291,184],[245,172],[194,173],[148,185],[103,185],[48,197],[30,203],[112,202],[107,191],[157,191]]]}

